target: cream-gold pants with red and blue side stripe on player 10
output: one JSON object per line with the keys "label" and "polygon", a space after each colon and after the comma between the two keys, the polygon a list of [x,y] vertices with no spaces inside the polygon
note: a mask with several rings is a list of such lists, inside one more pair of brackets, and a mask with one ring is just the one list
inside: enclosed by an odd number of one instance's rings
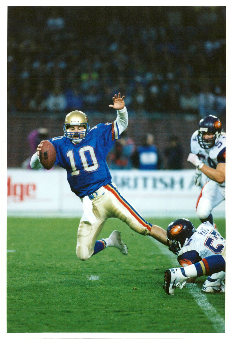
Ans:
{"label": "cream-gold pants with red and blue side stripe on player 10", "polygon": [[143,235],[150,234],[152,225],[120,195],[115,185],[102,186],[93,196],[91,201],[95,221],[91,223],[82,217],[78,228],[76,253],[80,260],[87,260],[92,256],[96,240],[108,218],[118,218],[132,230]]}

